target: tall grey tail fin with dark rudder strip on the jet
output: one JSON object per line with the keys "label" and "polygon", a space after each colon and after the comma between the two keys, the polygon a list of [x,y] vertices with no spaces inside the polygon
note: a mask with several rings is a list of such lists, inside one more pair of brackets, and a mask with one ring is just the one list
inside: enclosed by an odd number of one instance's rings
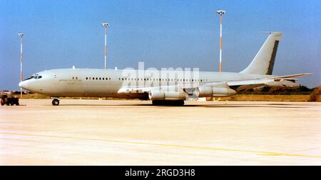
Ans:
{"label": "tall grey tail fin with dark rudder strip on the jet", "polygon": [[282,38],[282,32],[269,32],[269,34],[270,36],[267,37],[251,64],[243,71],[240,71],[240,73],[272,74],[277,46]]}

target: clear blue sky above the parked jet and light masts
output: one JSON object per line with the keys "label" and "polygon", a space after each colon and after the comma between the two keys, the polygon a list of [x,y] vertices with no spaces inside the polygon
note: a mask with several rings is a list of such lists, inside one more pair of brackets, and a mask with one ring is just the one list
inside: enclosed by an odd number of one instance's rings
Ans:
{"label": "clear blue sky above the parked jet and light masts", "polygon": [[0,89],[19,89],[24,32],[24,78],[44,69],[108,66],[198,67],[218,70],[218,9],[223,19],[223,71],[245,69],[267,35],[283,31],[273,74],[313,73],[303,85],[321,84],[321,1],[80,1],[0,0]]}

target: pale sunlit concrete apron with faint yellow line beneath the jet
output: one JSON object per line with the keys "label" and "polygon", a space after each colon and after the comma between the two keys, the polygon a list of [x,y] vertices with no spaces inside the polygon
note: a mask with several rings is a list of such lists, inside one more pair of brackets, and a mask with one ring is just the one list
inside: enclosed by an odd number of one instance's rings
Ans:
{"label": "pale sunlit concrete apron with faint yellow line beneath the jet", "polygon": [[21,99],[0,165],[321,165],[321,103]]}

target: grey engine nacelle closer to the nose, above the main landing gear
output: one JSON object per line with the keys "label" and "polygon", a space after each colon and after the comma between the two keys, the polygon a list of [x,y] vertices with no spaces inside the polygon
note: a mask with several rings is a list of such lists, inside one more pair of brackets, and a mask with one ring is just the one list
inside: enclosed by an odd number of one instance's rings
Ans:
{"label": "grey engine nacelle closer to the nose, above the main landing gear", "polygon": [[175,101],[175,100],[185,100],[187,94],[185,92],[162,92],[162,91],[151,91],[148,94],[149,99],[151,100],[168,100],[168,101]]}

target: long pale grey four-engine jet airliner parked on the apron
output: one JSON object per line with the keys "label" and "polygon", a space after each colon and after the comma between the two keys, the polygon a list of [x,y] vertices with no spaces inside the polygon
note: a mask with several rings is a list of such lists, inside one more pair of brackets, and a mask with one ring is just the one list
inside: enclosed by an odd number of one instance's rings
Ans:
{"label": "long pale grey four-engine jet airliner parked on the apron", "polygon": [[308,74],[271,75],[282,33],[269,34],[251,64],[239,73],[200,71],[197,76],[178,76],[177,71],[169,71],[176,75],[164,77],[151,76],[148,70],[132,70],[131,74],[135,75],[128,76],[127,70],[52,69],[30,76],[19,86],[51,96],[54,106],[59,104],[59,97],[149,99],[154,105],[183,105],[188,96],[233,96],[258,86],[297,88],[299,84],[293,78]]}

